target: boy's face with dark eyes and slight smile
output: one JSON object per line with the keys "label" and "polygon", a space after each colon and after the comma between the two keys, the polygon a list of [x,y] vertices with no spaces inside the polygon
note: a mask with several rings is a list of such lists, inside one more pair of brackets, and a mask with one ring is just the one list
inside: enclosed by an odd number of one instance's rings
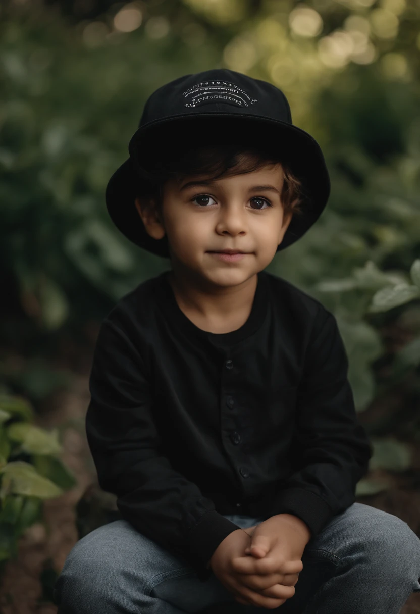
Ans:
{"label": "boy's face with dark eyes and slight smile", "polygon": [[[206,181],[186,177],[163,187],[162,219],[154,209],[136,207],[147,232],[168,236],[173,269],[216,286],[236,286],[273,260],[292,216],[284,217],[281,165]],[[193,184],[192,184],[193,182]],[[244,252],[225,255],[224,249]]]}

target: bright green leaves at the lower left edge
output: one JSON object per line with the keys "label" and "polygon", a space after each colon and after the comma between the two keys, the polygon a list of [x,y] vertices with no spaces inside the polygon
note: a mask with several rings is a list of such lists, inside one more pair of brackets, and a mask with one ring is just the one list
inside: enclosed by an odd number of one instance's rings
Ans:
{"label": "bright green leaves at the lower left edge", "polygon": [[28,400],[0,395],[0,565],[17,557],[18,538],[42,521],[42,501],[76,486],[60,460],[58,429],[33,421]]}

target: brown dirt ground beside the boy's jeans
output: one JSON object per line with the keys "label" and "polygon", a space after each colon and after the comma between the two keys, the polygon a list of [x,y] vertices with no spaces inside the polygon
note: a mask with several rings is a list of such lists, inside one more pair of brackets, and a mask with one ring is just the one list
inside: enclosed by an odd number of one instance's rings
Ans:
{"label": "brown dirt ground beside the boy's jeans", "polygon": [[[85,412],[89,402],[88,376],[78,375],[70,391],[56,395],[50,407],[37,419],[39,426],[62,429],[62,459],[77,479],[77,486],[44,504],[44,523],[29,527],[20,540],[17,561],[9,561],[0,585],[1,614],[56,614],[51,602],[55,574],[77,542],[76,503],[92,482],[96,482],[93,460],[85,437]],[[360,499],[402,518],[420,534],[420,492],[401,488]],[[47,578],[43,591],[41,573]],[[356,614],[356,613],[355,613]],[[384,612],[384,614],[387,614]],[[420,593],[411,594],[401,614],[420,614]]]}

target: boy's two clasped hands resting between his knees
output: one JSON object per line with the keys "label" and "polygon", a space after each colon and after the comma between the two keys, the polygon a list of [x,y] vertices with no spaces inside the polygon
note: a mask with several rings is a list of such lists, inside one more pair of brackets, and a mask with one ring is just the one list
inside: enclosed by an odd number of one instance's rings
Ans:
{"label": "boy's two clasped hands resting between his knees", "polygon": [[223,565],[217,564],[217,556],[212,569],[240,604],[274,609],[295,594],[294,586],[303,569],[301,557],[310,531],[300,518],[291,514],[271,516],[247,531],[252,529],[251,542],[244,535],[245,529],[233,531],[238,534],[236,540],[241,541],[242,548],[238,548],[239,543],[234,544],[232,538],[227,550],[230,562],[229,569],[225,569],[227,573],[217,573],[218,569],[223,572]]}

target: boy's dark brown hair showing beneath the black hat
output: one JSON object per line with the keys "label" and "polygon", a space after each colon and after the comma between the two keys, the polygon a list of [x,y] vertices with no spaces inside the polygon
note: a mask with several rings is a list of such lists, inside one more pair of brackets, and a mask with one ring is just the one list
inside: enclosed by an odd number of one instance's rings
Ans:
{"label": "boy's dark brown hair showing beneath the black hat", "polygon": [[181,182],[185,177],[200,176],[208,180],[216,180],[219,177],[251,173],[262,166],[279,163],[284,173],[281,193],[284,214],[292,212],[292,214],[301,215],[301,203],[304,200],[303,187],[300,179],[292,173],[287,163],[282,161],[278,153],[270,152],[265,147],[249,146],[238,142],[206,144],[181,151],[163,152],[163,156],[149,165],[149,168],[138,168],[142,182],[137,196],[142,206],[149,206],[150,201],[154,200],[158,212],[161,212],[163,185],[169,179]]}

